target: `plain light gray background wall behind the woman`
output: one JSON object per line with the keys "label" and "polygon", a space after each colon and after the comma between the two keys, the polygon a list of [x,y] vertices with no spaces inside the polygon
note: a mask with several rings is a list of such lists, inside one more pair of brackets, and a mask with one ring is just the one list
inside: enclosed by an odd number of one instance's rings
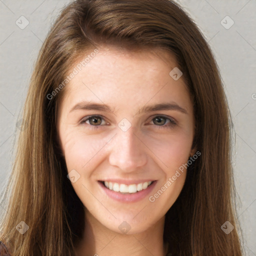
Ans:
{"label": "plain light gray background wall behind the woman", "polygon": [[[0,187],[10,173],[16,122],[38,50],[56,14],[68,2],[0,0]],[[221,72],[235,125],[233,162],[238,215],[247,255],[256,255],[253,242],[256,236],[256,1],[177,2],[190,13],[207,38]],[[26,21],[20,18],[22,15],[29,21],[23,29],[19,27]],[[231,19],[224,18],[227,15]],[[228,28],[232,20],[234,24]]]}

